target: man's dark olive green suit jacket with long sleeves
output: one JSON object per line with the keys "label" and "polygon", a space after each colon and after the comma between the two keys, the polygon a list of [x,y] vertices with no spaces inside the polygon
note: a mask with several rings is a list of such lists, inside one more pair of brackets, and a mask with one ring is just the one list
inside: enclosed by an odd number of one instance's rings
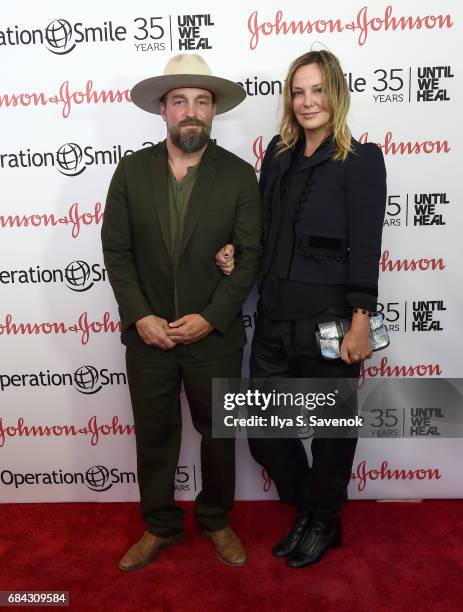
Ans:
{"label": "man's dark olive green suit jacket with long sleeves", "polygon": [[[165,141],[122,158],[109,186],[102,228],[122,342],[137,334],[134,323],[147,315],[174,321],[199,313],[214,331],[189,345],[194,357],[209,359],[241,348],[246,342],[241,307],[260,268],[260,237],[260,196],[252,166],[211,141],[174,266]],[[231,276],[215,264],[216,252],[227,243],[235,247]]]}

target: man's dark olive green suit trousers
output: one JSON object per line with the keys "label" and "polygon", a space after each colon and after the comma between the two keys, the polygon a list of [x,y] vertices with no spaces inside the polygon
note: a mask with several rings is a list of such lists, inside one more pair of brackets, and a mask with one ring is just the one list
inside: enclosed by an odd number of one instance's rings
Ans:
{"label": "man's dark olive green suit trousers", "polygon": [[202,490],[196,520],[202,529],[227,526],[235,494],[235,441],[212,437],[212,378],[239,378],[242,351],[212,360],[194,359],[186,346],[159,352],[141,341],[126,350],[127,377],[136,430],[141,512],[147,529],[170,537],[183,529],[183,510],[175,504],[180,453],[183,382],[195,429],[201,435]]}

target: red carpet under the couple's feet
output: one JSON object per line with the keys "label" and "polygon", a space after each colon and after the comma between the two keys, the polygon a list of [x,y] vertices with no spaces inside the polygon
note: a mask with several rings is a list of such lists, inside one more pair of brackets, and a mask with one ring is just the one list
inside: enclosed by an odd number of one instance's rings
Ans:
{"label": "red carpet under the couple's feet", "polygon": [[463,501],[350,502],[345,546],[293,570],[269,549],[289,525],[277,502],[239,502],[248,564],[214,556],[187,510],[186,539],[148,568],[116,564],[143,532],[137,504],[0,506],[0,590],[66,590],[72,610],[153,612],[463,609]]}

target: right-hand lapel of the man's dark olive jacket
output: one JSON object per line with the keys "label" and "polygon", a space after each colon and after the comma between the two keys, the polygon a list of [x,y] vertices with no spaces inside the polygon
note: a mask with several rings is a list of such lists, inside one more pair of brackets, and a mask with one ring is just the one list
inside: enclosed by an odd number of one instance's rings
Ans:
{"label": "right-hand lapel of the man's dark olive jacket", "polygon": [[186,249],[188,241],[193,234],[193,230],[198,222],[201,211],[204,208],[207,197],[212,189],[215,176],[219,167],[218,159],[220,157],[219,148],[211,141],[207,149],[204,151],[201,159],[201,165],[198,169],[193,191],[191,192],[190,201],[188,202],[187,212],[185,215],[185,224],[183,227],[182,244],[180,247],[179,256],[181,257]]}

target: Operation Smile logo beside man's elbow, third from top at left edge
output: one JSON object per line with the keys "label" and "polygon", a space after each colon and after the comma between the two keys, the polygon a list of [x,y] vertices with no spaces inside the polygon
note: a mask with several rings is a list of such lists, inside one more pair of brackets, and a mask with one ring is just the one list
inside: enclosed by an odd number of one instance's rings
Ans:
{"label": "Operation Smile logo beside man's elbow, third from top at left edge", "polygon": [[0,285],[62,283],[71,291],[88,291],[95,283],[106,281],[106,269],[98,263],[82,259],[71,261],[65,268],[31,266],[22,270],[0,270]]}

